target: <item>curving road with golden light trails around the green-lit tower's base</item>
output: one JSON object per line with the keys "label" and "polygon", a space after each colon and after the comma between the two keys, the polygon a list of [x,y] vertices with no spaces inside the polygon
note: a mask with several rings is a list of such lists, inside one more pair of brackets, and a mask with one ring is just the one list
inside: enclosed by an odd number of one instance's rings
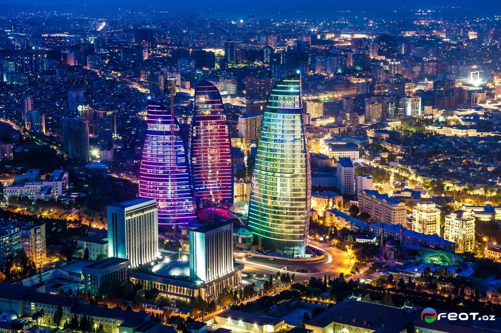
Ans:
{"label": "curving road with golden light trails around the green-lit tower's base", "polygon": [[[267,258],[244,258],[235,257],[237,262],[244,263],[244,272],[249,273],[260,273],[264,275],[269,275],[270,273],[276,274],[277,271],[282,273],[289,272],[289,274],[296,274],[296,281],[309,280],[312,276],[316,278],[323,278],[324,275],[331,276],[335,278],[339,273],[343,272],[345,274],[349,273],[350,268],[353,265],[353,259],[348,257],[346,251],[339,250],[337,248],[329,246],[329,244],[319,244],[316,242],[308,242],[312,247],[321,248],[327,254],[327,258],[311,262],[295,262],[288,260],[274,259],[270,260]],[[285,266],[289,268],[282,269]],[[298,271],[300,270],[300,271]]]}

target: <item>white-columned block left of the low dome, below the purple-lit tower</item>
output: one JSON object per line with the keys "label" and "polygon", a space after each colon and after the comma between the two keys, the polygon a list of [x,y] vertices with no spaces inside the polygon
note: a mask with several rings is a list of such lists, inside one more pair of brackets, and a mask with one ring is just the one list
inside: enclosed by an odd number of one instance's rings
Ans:
{"label": "white-columned block left of the low dome, below the purple-lit tower", "polygon": [[151,262],[158,255],[156,200],[137,198],[107,208],[108,255],[130,260],[131,267]]}

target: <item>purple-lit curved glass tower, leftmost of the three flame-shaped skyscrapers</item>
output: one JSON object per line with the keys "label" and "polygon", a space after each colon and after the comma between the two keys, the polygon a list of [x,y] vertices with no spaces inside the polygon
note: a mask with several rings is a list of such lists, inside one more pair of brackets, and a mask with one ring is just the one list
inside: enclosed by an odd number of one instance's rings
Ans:
{"label": "purple-lit curved glass tower, leftmost of the three flame-shaped skyscrapers", "polygon": [[186,151],[174,115],[157,102],[148,101],[139,196],[156,199],[160,227],[195,219]]}

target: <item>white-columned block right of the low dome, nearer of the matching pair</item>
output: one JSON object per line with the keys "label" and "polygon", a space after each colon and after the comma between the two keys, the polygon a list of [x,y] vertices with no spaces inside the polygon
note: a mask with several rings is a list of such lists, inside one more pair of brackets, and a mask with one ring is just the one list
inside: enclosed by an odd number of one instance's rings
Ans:
{"label": "white-columned block right of the low dome, nearer of the matching pair", "polygon": [[189,276],[209,282],[233,270],[233,224],[213,223],[189,231]]}

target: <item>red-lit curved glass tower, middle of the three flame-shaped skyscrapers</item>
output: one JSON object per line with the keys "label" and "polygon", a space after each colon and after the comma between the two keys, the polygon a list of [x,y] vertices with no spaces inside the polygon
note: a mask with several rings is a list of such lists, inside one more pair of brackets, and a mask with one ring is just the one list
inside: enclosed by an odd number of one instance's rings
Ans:
{"label": "red-lit curved glass tower, middle of the three flame-shaped skyscrapers", "polygon": [[200,82],[188,140],[188,161],[196,205],[233,203],[233,167],[228,125],[221,95]]}

